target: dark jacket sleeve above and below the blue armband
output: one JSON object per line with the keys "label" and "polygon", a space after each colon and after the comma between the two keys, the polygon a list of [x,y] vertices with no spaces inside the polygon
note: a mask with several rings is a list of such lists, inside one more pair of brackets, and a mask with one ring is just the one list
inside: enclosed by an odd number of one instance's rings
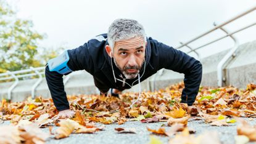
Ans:
{"label": "dark jacket sleeve above and below the blue armband", "polygon": [[[76,49],[68,50],[68,56],[70,60],[68,60],[67,65],[72,71],[86,70],[90,72],[92,70],[87,44]],[[52,100],[57,110],[68,110],[70,107],[64,89],[63,75],[56,71],[49,71],[48,66],[46,66],[45,76],[47,86],[49,87]]]}

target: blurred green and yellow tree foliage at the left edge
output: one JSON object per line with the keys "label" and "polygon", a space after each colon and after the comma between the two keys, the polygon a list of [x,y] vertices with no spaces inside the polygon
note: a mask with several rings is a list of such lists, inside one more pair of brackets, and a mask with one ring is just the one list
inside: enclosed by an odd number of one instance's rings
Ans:
{"label": "blurred green and yellow tree foliage at the left edge", "polygon": [[7,2],[0,0],[0,73],[43,66],[55,57],[54,52],[38,57],[38,41],[43,38],[33,30],[31,20],[16,18]]}

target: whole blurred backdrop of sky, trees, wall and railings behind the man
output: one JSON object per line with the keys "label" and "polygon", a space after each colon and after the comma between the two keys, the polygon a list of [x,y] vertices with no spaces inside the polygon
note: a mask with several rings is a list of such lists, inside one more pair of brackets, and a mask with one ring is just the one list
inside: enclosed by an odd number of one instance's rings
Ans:
{"label": "whole blurred backdrop of sky, trees, wall and railings behind the man", "polygon": [[[51,97],[47,61],[107,33],[117,18],[138,20],[148,37],[200,60],[201,86],[256,83],[255,0],[0,0],[0,98]],[[141,89],[154,91],[183,79],[184,74],[162,69]],[[64,85],[68,95],[99,93],[85,71],[64,76]]]}

